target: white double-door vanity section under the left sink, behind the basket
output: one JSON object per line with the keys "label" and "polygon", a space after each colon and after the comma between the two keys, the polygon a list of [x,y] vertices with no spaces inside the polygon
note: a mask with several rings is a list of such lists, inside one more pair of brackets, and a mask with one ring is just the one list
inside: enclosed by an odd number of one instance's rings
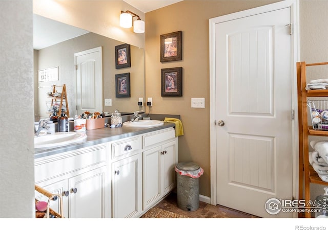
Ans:
{"label": "white double-door vanity section under the left sink, behind the basket", "polygon": [[[35,159],[35,184],[63,195],[65,218],[111,217],[107,144]],[[48,198],[35,192],[35,198]],[[59,199],[51,208],[59,213]]]}

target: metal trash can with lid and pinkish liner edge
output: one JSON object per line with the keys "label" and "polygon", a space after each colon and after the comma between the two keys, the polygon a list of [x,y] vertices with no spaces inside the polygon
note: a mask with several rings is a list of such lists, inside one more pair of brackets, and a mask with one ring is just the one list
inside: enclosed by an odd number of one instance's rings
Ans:
{"label": "metal trash can with lid and pinkish liner edge", "polygon": [[199,177],[203,169],[193,162],[181,162],[175,167],[177,175],[177,206],[181,210],[199,208]]}

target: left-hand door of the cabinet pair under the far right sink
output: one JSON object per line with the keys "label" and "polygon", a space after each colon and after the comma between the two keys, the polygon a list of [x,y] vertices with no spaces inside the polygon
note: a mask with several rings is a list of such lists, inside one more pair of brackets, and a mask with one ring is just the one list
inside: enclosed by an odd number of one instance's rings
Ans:
{"label": "left-hand door of the cabinet pair under the far right sink", "polygon": [[161,197],[160,153],[160,146],[142,153],[144,210]]}

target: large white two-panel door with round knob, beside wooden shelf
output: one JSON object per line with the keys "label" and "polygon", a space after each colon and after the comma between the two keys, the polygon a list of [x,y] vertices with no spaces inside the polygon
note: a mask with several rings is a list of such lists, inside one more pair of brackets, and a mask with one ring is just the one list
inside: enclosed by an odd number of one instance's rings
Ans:
{"label": "large white two-panel door with round knob, beside wooden shelf", "polygon": [[215,25],[217,203],[260,217],[292,217],[265,211],[293,194],[290,23],[284,8]]}

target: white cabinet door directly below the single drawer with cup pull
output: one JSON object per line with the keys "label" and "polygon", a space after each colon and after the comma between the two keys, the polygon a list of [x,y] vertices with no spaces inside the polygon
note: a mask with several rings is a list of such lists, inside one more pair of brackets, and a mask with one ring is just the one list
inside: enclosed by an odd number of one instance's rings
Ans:
{"label": "white cabinet door directly below the single drawer with cup pull", "polygon": [[135,217],[141,212],[141,154],[112,165],[112,208],[114,218]]}

